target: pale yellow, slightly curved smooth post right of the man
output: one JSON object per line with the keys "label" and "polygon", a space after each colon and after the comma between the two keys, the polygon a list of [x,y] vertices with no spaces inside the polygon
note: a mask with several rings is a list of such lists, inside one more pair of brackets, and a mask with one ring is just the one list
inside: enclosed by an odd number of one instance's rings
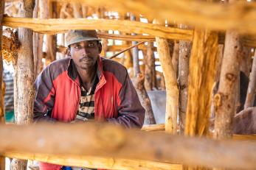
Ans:
{"label": "pale yellow, slightly curved smooth post right of the man", "polygon": [[[160,24],[159,21],[154,21]],[[179,92],[177,86],[176,72],[173,68],[172,58],[168,42],[165,38],[156,37],[157,52],[162,65],[165,77],[166,87],[166,113],[165,113],[165,131],[176,134],[177,132],[177,114],[179,103]]]}

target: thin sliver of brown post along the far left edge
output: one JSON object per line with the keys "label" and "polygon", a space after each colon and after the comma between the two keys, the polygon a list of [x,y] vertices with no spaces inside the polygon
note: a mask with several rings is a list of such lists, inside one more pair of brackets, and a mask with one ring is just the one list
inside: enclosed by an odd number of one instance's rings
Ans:
{"label": "thin sliver of brown post along the far left edge", "polygon": [[[1,21],[4,16],[4,5],[5,5],[4,0],[0,1],[0,49],[1,49],[2,29],[3,29]],[[0,50],[0,87],[2,86],[2,82],[3,82],[3,60],[1,57],[1,50]],[[5,118],[4,118],[4,96],[2,94],[2,91],[0,91],[0,124],[3,124],[4,120],[5,120]],[[5,169],[4,159],[5,159],[4,157],[0,156],[0,169]]]}

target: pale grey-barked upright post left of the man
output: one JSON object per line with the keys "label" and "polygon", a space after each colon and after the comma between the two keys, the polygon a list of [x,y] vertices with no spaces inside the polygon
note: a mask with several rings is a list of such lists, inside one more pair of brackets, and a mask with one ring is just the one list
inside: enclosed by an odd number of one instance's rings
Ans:
{"label": "pale grey-barked upright post left of the man", "polygon": [[[21,1],[20,17],[32,18],[35,0]],[[18,59],[15,65],[14,100],[15,100],[15,123],[32,123],[34,104],[34,62],[31,29],[18,28]],[[13,159],[12,169],[27,169],[26,160]]]}

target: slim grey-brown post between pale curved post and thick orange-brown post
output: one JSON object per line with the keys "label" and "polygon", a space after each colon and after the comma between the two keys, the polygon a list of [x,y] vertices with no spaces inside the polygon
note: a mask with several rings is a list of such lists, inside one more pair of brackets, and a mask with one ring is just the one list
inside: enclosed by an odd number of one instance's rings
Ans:
{"label": "slim grey-brown post between pale curved post and thick orange-brown post", "polygon": [[184,134],[187,108],[187,82],[191,43],[179,41],[179,132]]}

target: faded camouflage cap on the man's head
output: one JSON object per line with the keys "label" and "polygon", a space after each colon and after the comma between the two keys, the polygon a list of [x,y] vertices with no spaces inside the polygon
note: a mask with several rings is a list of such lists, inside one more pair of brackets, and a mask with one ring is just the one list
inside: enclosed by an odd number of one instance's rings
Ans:
{"label": "faded camouflage cap on the man's head", "polygon": [[66,35],[66,45],[79,43],[84,40],[100,40],[95,30],[70,30]]}

